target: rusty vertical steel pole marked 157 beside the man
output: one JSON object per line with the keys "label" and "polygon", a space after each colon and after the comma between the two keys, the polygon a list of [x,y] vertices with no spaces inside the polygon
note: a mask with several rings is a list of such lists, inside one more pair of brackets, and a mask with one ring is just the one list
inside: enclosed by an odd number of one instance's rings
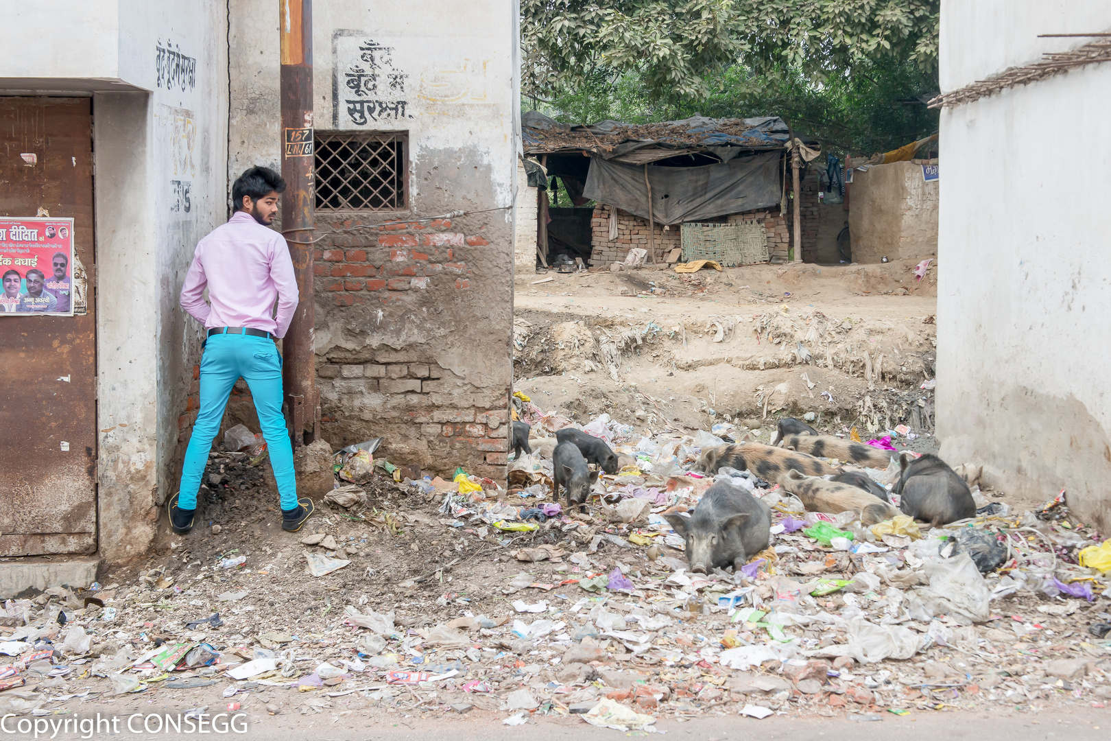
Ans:
{"label": "rusty vertical steel pole marked 157 beside the man", "polygon": [[279,0],[281,33],[281,199],[282,233],[297,273],[300,302],[282,341],[282,383],[289,403],[293,447],[320,433],[320,401],[312,336],[313,137],[312,137],[312,0]]}

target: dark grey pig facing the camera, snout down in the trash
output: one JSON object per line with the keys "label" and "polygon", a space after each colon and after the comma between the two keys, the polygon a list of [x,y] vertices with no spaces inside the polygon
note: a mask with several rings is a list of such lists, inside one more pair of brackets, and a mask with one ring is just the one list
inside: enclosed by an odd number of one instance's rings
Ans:
{"label": "dark grey pig facing the camera, snout down in the trash", "polygon": [[663,517],[685,541],[692,573],[729,565],[737,571],[750,557],[768,548],[768,505],[724,481],[705,490],[690,517]]}

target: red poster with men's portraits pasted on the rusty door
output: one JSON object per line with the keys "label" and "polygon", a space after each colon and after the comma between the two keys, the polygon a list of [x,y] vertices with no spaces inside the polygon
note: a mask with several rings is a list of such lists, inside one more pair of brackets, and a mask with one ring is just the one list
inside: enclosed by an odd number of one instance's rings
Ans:
{"label": "red poster with men's portraits pasted on the rusty door", "polygon": [[73,316],[73,220],[0,219],[0,317]]}

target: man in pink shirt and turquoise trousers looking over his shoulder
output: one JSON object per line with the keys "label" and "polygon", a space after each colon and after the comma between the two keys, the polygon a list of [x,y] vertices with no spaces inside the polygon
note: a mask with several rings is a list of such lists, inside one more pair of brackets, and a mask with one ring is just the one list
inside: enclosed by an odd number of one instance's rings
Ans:
{"label": "man in pink shirt and turquoise trousers looking over his shoulder", "polygon": [[289,249],[282,236],[267,227],[284,190],[286,181],[273,170],[254,167],[243,172],[231,187],[236,213],[197,244],[181,287],[181,307],[204,326],[208,339],[201,358],[200,411],[186,450],[181,485],[167,502],[170,527],[178,534],[189,532],[196,521],[197,492],[212,439],[240,377],[251,389],[278,481],[282,529],[296,532],[312,514],[312,500],[297,497],[293,449],[281,413],[281,356],[273,342],[286,336],[297,308]]}

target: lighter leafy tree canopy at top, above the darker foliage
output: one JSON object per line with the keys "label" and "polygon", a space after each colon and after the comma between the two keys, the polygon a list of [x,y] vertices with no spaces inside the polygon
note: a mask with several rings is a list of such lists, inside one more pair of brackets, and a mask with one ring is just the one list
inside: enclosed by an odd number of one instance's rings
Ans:
{"label": "lighter leafy tree canopy at top, above the darker foliage", "polygon": [[651,98],[705,98],[743,62],[822,81],[884,57],[937,67],[940,0],[522,0],[524,93],[638,73]]}

